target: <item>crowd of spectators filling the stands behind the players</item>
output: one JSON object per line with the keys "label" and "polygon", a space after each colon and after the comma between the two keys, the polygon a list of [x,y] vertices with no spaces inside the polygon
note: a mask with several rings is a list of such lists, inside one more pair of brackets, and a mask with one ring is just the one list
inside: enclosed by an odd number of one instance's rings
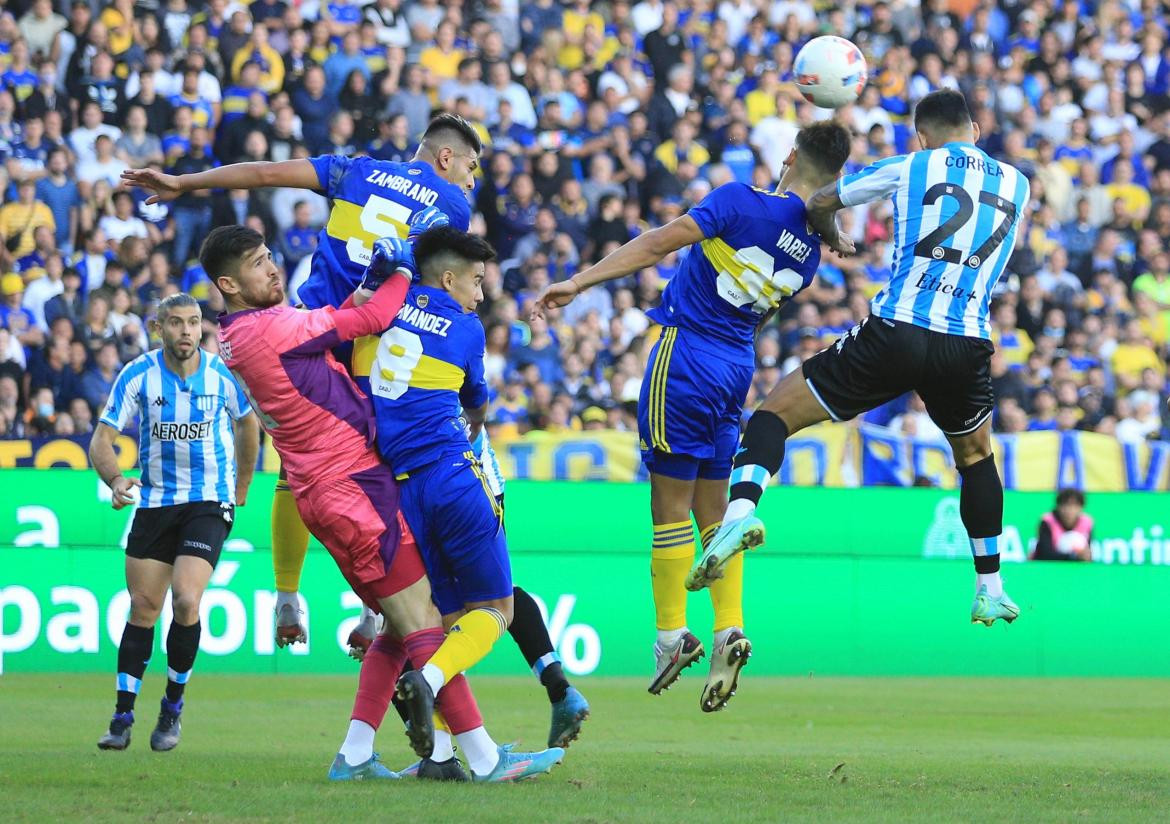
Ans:
{"label": "crowd of spectators filling the stands behind the players", "polygon": [[[979,145],[1032,202],[993,296],[997,430],[1170,439],[1170,50],[1157,0],[9,0],[0,12],[0,437],[92,428],[121,365],[153,344],[158,301],[221,298],[194,260],[216,225],[261,231],[295,290],[324,198],[187,193],[146,205],[126,167],[367,152],[408,160],[432,112],[486,152],[473,231],[489,266],[497,431],[635,430],[653,330],[677,266],[597,288],[550,324],[532,298],[730,180],[773,187],[818,34],[861,46],[870,83],[839,117],[847,171],[913,150],[908,115],[962,89]],[[890,274],[888,204],[841,214],[858,241],[763,329],[749,408],[868,314]],[[938,437],[914,398],[867,417]]]}

